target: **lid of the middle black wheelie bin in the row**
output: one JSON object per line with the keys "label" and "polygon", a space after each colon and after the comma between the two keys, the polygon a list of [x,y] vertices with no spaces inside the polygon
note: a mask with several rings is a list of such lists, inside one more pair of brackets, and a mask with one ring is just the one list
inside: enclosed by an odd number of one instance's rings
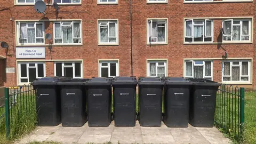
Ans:
{"label": "lid of the middle black wheelie bin in the row", "polygon": [[137,78],[134,76],[131,77],[115,77],[114,79],[112,79],[112,84],[113,85],[126,85],[126,84],[133,84],[133,85],[137,85]]}

